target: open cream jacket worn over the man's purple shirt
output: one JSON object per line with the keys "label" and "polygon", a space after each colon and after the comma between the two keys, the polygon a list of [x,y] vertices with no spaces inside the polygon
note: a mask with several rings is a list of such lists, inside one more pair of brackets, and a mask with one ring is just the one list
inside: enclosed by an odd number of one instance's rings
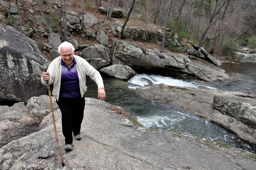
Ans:
{"label": "open cream jacket worn over the man's purple shirt", "polygon": [[[93,68],[84,58],[74,55],[76,60],[76,69],[79,78],[79,87],[81,96],[87,90],[86,86],[86,75],[88,75],[98,86],[98,88],[104,88],[103,80],[100,73]],[[58,100],[61,88],[61,56],[55,58],[49,65],[47,72],[49,72],[50,79],[49,84],[53,84],[52,95]],[[41,78],[44,85],[47,85],[46,81]]]}

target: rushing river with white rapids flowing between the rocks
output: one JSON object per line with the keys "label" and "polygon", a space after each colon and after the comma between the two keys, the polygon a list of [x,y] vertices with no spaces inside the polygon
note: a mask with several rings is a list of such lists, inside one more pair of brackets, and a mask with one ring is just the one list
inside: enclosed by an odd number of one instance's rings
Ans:
{"label": "rushing river with white rapids flowing between the rocks", "polygon": [[[195,88],[212,88],[218,90],[256,92],[256,63],[239,62],[236,64],[224,63],[221,66],[230,76],[230,81],[220,84],[207,84],[205,82],[189,82],[177,80],[160,75],[139,74],[128,82],[114,78],[104,78],[107,98],[105,101],[113,105],[124,107],[145,127],[159,130],[172,130],[175,132],[186,132],[201,138],[215,140],[224,144],[249,150],[256,153],[256,148],[241,141],[236,135],[227,132],[223,128],[209,121],[187,114],[166,105],[145,101],[128,92],[123,87],[130,89],[147,88],[147,84],[167,84],[172,86],[192,86]],[[88,80],[88,91],[86,97],[96,98],[96,84]]]}

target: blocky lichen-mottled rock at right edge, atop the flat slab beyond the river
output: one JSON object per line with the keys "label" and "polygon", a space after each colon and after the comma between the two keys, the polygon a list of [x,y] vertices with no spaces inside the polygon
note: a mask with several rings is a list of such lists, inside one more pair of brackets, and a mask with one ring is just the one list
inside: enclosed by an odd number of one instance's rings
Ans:
{"label": "blocky lichen-mottled rock at right edge, atop the flat slab beyond the river", "polygon": [[256,129],[256,106],[215,95],[212,107]]}

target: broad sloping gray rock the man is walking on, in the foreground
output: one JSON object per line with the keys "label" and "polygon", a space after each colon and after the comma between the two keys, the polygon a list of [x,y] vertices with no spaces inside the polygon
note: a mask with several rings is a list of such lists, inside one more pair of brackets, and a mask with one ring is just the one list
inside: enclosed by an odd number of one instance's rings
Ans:
{"label": "broad sloping gray rock the man is walking on, in the foreground", "polygon": [[0,149],[0,169],[229,170],[242,167],[253,170],[256,166],[252,153],[187,133],[149,130],[130,117],[116,115],[122,111],[118,107],[92,98],[85,98],[85,101],[81,124],[83,138],[73,141],[70,152],[64,151],[61,112],[60,109],[55,110],[58,141],[65,167],[61,167],[49,113],[40,131]]}

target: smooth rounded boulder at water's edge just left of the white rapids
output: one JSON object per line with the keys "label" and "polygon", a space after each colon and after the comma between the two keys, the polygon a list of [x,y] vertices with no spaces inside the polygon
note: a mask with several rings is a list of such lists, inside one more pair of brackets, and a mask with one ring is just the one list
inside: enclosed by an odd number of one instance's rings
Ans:
{"label": "smooth rounded boulder at water's edge just left of the white rapids", "polygon": [[131,67],[120,64],[113,64],[112,66],[104,67],[100,69],[99,72],[124,80],[128,80],[136,75],[136,72]]}

